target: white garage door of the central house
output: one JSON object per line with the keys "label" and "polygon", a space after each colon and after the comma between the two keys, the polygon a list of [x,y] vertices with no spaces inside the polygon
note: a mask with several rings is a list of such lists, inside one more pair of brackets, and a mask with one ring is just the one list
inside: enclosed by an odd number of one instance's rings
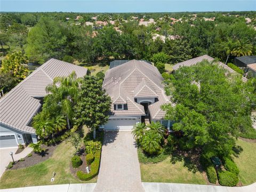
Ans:
{"label": "white garage door of the central house", "polygon": [[131,130],[138,118],[112,118],[104,125],[104,130]]}

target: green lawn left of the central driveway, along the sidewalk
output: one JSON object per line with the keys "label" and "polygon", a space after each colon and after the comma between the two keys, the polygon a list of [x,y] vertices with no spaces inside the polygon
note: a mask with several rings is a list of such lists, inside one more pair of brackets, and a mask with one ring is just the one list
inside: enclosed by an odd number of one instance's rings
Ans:
{"label": "green lawn left of the central driveway, along the sidewalk", "polygon": [[[69,171],[69,163],[74,154],[74,147],[63,141],[46,161],[25,169],[6,171],[0,179],[0,188],[15,188],[38,185],[54,185],[64,183],[81,183]],[[54,182],[52,173],[56,172]],[[97,182],[93,178],[86,182]]]}

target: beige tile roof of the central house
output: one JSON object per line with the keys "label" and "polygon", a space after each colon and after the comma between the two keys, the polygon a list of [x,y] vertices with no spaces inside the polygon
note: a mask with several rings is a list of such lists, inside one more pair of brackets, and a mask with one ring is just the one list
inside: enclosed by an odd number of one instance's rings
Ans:
{"label": "beige tile roof of the central house", "polygon": [[[163,77],[156,67],[145,61],[131,60],[123,65],[107,70],[103,88],[110,95],[114,115],[145,115],[142,105],[134,98],[154,97],[158,101],[149,108],[151,117],[163,118],[165,112],[160,109],[169,102],[164,93]],[[114,104],[127,103],[128,110],[114,110]]]}

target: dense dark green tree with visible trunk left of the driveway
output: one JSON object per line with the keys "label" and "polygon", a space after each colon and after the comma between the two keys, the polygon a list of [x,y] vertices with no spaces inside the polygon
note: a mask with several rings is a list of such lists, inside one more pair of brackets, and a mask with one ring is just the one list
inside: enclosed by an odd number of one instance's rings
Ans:
{"label": "dense dark green tree with visible trunk left of the driveway", "polygon": [[102,80],[94,76],[84,76],[75,106],[76,125],[85,124],[95,130],[108,122],[111,99],[102,89]]}

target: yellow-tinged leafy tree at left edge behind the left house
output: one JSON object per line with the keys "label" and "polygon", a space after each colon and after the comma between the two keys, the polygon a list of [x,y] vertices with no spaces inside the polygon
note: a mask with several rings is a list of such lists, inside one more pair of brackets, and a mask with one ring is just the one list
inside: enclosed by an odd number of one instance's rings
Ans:
{"label": "yellow-tinged leafy tree at left edge behind the left house", "polygon": [[21,52],[7,54],[2,61],[1,72],[11,73],[12,77],[17,78],[18,82],[26,78],[28,74],[27,57]]}

